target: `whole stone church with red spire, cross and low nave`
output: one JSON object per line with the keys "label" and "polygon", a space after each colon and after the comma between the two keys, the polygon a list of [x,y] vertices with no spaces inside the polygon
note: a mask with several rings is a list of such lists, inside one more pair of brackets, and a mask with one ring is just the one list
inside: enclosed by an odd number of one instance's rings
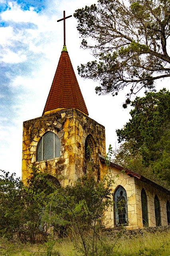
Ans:
{"label": "whole stone church with red spire, cross and low nave", "polygon": [[[100,181],[108,170],[105,156],[105,127],[89,117],[64,41],[42,116],[23,123],[22,181],[34,166],[66,186],[88,171],[89,160]],[[114,206],[105,212],[105,228],[170,224],[169,190],[113,162],[109,171]]]}

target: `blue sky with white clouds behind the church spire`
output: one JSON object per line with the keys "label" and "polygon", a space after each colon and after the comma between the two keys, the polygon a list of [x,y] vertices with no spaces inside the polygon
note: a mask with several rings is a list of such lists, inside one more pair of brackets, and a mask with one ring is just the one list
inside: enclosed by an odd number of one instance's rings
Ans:
{"label": "blue sky with white clouds behind the church spire", "polygon": [[[63,22],[78,8],[97,0],[0,0],[0,170],[21,177],[22,125],[42,116],[63,48]],[[77,66],[93,59],[80,48],[77,20],[66,20],[66,46],[89,117],[105,126],[106,147],[118,147],[116,129],[128,122],[126,92],[98,96],[93,80],[83,80]],[[157,89],[163,88],[162,82]],[[143,95],[142,95],[143,96]]]}

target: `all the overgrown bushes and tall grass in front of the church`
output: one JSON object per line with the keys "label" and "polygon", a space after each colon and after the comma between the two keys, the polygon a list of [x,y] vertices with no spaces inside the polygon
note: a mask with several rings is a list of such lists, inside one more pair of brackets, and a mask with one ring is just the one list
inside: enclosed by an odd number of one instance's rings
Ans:
{"label": "all the overgrown bushes and tall grass in front of the church", "polygon": [[[2,171],[0,255],[156,256],[161,252],[168,256],[169,231],[162,232],[161,239],[159,232],[128,238],[123,227],[116,235],[103,233],[104,212],[113,204],[110,187],[114,177],[109,170],[112,154],[110,146],[105,158],[108,170],[102,180],[89,170],[66,187],[36,168],[26,186],[15,174]],[[154,242],[158,236],[159,243]],[[129,243],[134,248],[130,246],[129,250]]]}

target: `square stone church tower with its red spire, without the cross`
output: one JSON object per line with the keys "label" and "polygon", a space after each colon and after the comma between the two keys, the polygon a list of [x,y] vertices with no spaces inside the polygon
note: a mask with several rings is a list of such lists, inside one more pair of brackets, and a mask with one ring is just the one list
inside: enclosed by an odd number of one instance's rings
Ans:
{"label": "square stone church tower with its red spire, without the cross", "polygon": [[42,116],[23,123],[22,180],[36,167],[65,186],[87,171],[89,158],[99,177],[105,154],[105,128],[88,117],[64,45]]}

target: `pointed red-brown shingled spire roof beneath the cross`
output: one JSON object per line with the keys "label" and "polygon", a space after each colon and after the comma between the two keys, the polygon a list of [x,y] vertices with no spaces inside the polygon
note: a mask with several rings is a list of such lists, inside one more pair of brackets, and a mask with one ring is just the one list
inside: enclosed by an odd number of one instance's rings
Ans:
{"label": "pointed red-brown shingled spire roof beneath the cross", "polygon": [[46,111],[57,108],[76,108],[88,115],[85,101],[65,46],[59,58],[43,114]]}

